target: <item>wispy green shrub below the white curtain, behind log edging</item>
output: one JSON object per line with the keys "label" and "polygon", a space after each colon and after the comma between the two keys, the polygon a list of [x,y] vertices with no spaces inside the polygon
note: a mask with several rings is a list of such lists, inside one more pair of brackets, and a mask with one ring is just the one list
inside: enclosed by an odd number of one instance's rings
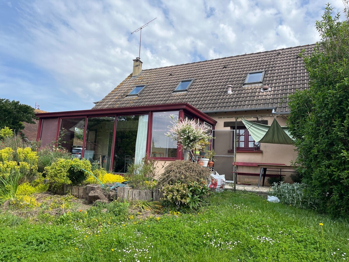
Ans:
{"label": "wispy green shrub below the white curtain, behind log edging", "polygon": [[156,161],[148,154],[138,163],[128,166],[126,179],[135,189],[153,189],[155,187]]}

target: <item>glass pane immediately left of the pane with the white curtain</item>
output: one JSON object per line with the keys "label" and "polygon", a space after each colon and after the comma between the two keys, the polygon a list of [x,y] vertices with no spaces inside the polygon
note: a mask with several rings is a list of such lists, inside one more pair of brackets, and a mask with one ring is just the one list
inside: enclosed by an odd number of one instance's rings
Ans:
{"label": "glass pane immediately left of the pane with the white curtain", "polygon": [[87,119],[84,158],[110,169],[115,117]]}

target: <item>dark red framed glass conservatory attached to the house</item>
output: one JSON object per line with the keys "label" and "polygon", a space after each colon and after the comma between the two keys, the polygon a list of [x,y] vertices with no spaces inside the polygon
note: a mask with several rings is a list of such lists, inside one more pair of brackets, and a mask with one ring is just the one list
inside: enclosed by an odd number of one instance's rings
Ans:
{"label": "dark red framed glass conservatory attached to the house", "polygon": [[165,136],[178,119],[197,119],[213,130],[216,121],[187,103],[36,114],[41,146],[59,145],[73,157],[126,173],[148,153],[156,160],[183,159],[181,147]]}

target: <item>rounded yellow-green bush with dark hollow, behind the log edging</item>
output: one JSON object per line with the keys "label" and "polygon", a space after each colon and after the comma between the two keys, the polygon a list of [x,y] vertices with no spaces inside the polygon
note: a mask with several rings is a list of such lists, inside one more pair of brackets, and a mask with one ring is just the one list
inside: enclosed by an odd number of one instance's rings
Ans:
{"label": "rounded yellow-green bush with dark hollow, behind the log edging", "polygon": [[91,163],[86,159],[79,160],[59,158],[53,162],[51,166],[45,167],[46,178],[58,184],[73,184],[82,183],[88,177],[88,173],[82,169],[92,172]]}

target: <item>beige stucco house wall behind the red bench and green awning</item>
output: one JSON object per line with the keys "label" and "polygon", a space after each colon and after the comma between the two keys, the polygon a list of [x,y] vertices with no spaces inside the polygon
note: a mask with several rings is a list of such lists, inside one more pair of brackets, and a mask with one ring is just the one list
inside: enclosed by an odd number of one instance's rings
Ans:
{"label": "beige stucco house wall behind the red bench and green awning", "polygon": [[[208,114],[210,117],[215,119],[217,121],[217,124],[215,126],[215,130],[227,130],[229,134],[232,134],[232,132],[229,132],[228,130],[231,130],[230,127],[224,127],[224,122],[235,122],[235,119],[238,118],[237,121],[241,121],[242,117],[246,118],[247,120],[258,120],[257,117],[248,117],[248,116],[256,116],[256,115],[272,115],[271,110],[267,111],[247,111],[247,112],[227,112],[227,113],[213,113]],[[281,115],[275,115],[277,122],[281,126],[286,125],[286,117]],[[274,120],[274,116],[268,116],[263,117],[263,119],[259,118],[259,120],[267,120],[268,125],[272,124]],[[232,147],[233,145],[233,138],[232,135],[230,135],[230,140],[228,141],[228,136],[225,137],[224,141],[218,141],[219,140],[219,134],[222,134],[223,132],[216,131],[215,136],[218,143],[215,143],[215,151],[219,152],[220,154],[224,155],[226,153],[227,155],[231,157],[217,157],[217,160],[215,162],[215,170],[217,170],[218,173],[225,174],[226,179],[233,179],[231,176],[231,172],[233,171],[233,152],[228,152],[227,147]],[[227,145],[228,144],[228,145]],[[224,147],[223,150],[221,148]],[[231,148],[233,149],[233,148]],[[259,162],[259,163],[283,163],[287,166],[291,165],[292,160],[295,160],[297,157],[296,152],[294,151],[295,147],[292,145],[278,145],[278,144],[266,144],[261,143],[260,144],[260,150],[261,153],[242,153],[237,152],[236,155],[236,161],[237,162]],[[260,169],[257,167],[238,167],[238,170],[240,172],[253,172],[253,173],[259,173]],[[276,172],[270,172],[270,174],[277,174]],[[290,179],[291,173],[283,173],[285,174],[285,181],[286,182],[292,182]],[[238,176],[237,182],[241,183],[251,183],[251,184],[257,184],[258,183],[258,177],[254,176]]]}

